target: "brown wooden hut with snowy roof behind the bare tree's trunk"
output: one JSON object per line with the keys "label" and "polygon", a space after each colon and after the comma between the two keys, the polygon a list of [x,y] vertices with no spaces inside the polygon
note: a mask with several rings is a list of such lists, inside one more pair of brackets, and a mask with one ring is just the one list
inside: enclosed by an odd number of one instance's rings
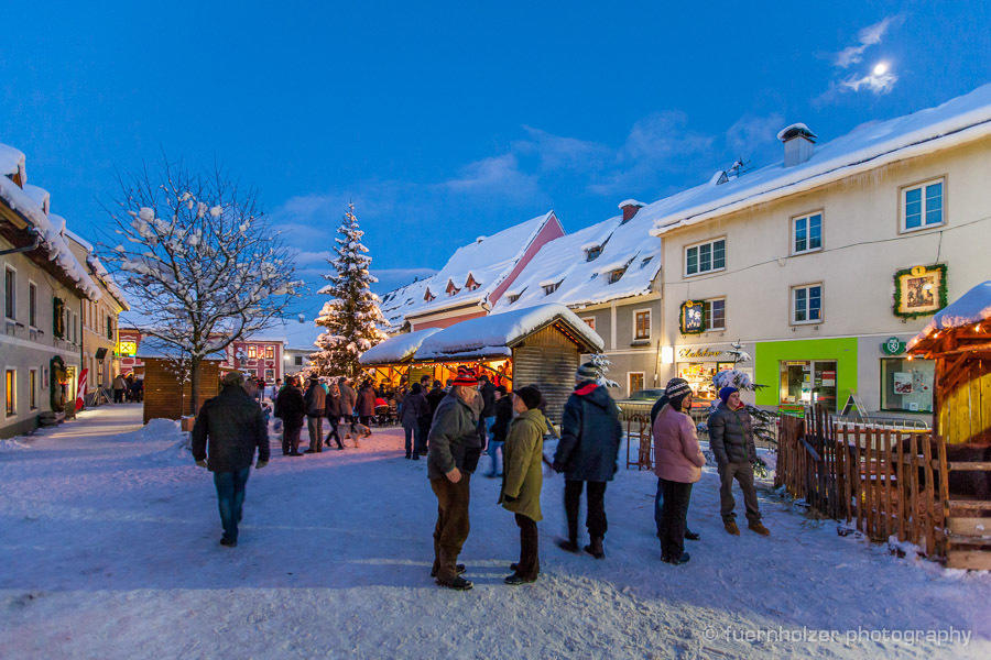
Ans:
{"label": "brown wooden hut with snowy roof behind the bare tree's trunk", "polygon": [[[176,351],[154,337],[141,342],[138,355],[144,362],[144,422],[150,419],[179,419],[193,415],[193,392],[188,371]],[[222,351],[211,353],[200,363],[199,406],[220,393]]]}

